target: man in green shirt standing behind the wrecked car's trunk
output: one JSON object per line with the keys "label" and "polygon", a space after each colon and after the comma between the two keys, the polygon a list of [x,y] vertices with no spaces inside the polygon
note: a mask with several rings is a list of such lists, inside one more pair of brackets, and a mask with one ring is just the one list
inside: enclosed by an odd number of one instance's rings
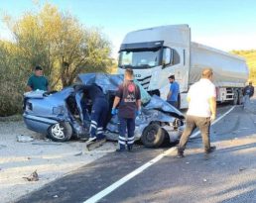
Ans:
{"label": "man in green shirt standing behind the wrecked car's trunk", "polygon": [[43,75],[43,68],[37,65],[34,69],[34,74],[30,76],[27,83],[27,91],[50,91],[49,81]]}

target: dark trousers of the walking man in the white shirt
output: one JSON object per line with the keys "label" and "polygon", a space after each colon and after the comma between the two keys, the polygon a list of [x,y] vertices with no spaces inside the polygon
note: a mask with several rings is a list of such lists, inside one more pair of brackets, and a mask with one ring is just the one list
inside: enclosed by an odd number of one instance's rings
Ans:
{"label": "dark trousers of the walking man in the white shirt", "polygon": [[196,117],[187,116],[186,118],[186,129],[181,137],[180,144],[178,147],[178,152],[184,152],[186,145],[192,131],[197,127],[201,134],[202,143],[204,145],[204,151],[209,152],[210,150],[210,139],[209,139],[209,128],[210,128],[210,118],[209,117]]}

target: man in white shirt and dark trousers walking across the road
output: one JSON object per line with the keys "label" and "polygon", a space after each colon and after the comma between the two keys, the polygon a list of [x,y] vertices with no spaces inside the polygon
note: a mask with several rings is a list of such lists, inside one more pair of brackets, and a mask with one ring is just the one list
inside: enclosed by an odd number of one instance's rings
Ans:
{"label": "man in white shirt and dark trousers walking across the road", "polygon": [[184,157],[184,151],[192,131],[197,127],[200,131],[204,152],[210,153],[215,147],[210,147],[210,122],[216,118],[216,89],[212,81],[212,69],[202,70],[201,79],[195,82],[188,93],[189,110],[186,118],[186,129],[178,147],[178,157]]}

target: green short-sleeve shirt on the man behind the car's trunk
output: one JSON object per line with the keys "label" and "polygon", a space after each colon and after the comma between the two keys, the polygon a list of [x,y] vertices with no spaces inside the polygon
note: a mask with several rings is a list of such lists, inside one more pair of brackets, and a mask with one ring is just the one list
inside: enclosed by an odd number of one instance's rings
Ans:
{"label": "green short-sleeve shirt on the man behind the car's trunk", "polygon": [[30,86],[33,91],[38,89],[47,91],[49,82],[45,76],[36,76],[35,74],[33,74],[30,76],[27,85]]}

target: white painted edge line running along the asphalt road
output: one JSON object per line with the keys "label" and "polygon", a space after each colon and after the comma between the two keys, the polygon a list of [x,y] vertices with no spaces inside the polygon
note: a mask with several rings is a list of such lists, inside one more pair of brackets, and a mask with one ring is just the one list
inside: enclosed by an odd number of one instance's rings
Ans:
{"label": "white painted edge line running along the asphalt road", "polygon": [[[218,119],[216,119],[211,125],[216,124],[218,121],[220,121],[223,117],[225,117],[227,114],[229,114],[233,109],[235,108],[235,106],[233,106],[232,108],[230,108],[225,114],[223,114],[222,116],[220,116]],[[193,138],[195,138],[195,136],[198,136],[199,132],[194,133],[192,136]],[[191,137],[192,138],[192,137]],[[124,177],[122,177],[121,179],[117,180],[116,182],[114,182],[113,184],[109,185],[108,187],[106,187],[105,189],[103,189],[102,191],[98,192],[97,194],[93,195],[92,197],[90,197],[89,199],[87,199],[86,201],[84,201],[83,203],[95,203],[97,201],[99,201],[100,199],[102,199],[103,197],[105,197],[106,195],[110,194],[112,191],[114,191],[115,189],[117,189],[118,187],[120,187],[121,185],[123,185],[124,183],[126,183],[127,181],[129,181],[130,179],[132,179],[133,177],[135,177],[136,175],[140,174],[141,172],[143,172],[145,169],[147,169],[148,167],[150,167],[151,165],[155,164],[156,162],[158,162],[159,160],[161,160],[163,157],[165,157],[167,154],[171,153],[171,152],[175,152],[177,150],[177,148],[172,148],[169,149],[165,152],[160,153],[159,155],[157,155],[155,158],[151,159],[150,161],[146,162],[145,164],[143,164],[142,166],[138,167],[137,169],[133,170],[132,172],[130,172],[129,174],[125,175]]]}

